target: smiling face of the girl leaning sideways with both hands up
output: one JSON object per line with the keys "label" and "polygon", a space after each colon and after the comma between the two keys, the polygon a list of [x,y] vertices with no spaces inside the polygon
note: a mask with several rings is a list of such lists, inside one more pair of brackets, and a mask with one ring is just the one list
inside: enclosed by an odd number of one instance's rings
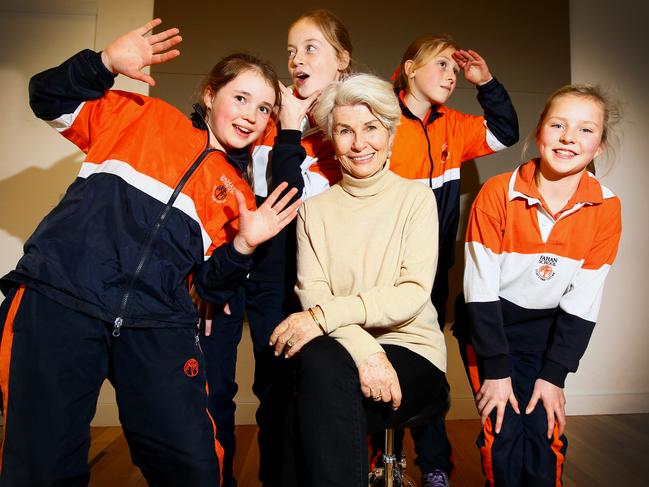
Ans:
{"label": "smiling face of the girl leaning sideways with both hands up", "polygon": [[224,151],[242,149],[257,140],[275,105],[275,90],[255,70],[245,70],[217,93],[203,93],[210,145]]}

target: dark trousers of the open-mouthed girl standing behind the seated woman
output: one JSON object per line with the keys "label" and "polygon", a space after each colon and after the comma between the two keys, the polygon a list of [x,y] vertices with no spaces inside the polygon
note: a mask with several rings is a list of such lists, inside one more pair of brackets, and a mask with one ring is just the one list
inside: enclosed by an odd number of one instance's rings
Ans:
{"label": "dark trousers of the open-mouthed girl standing behind the seated woman", "polygon": [[235,372],[244,315],[248,317],[255,357],[252,390],[259,398],[259,480],[264,487],[281,486],[283,418],[294,389],[294,371],[293,361],[275,357],[268,341],[275,327],[297,309],[293,296],[281,282],[247,279],[229,301],[231,314],[220,313],[214,318],[210,336],[201,336],[210,384],[209,411],[219,425],[217,438],[224,449],[222,487],[237,485],[232,475],[236,451],[234,397],[238,390]]}

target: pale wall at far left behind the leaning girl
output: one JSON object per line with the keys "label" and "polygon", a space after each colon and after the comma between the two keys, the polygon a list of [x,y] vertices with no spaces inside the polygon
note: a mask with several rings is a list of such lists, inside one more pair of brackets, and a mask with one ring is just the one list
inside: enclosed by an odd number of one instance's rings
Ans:
{"label": "pale wall at far left behind the leaning girl", "polygon": [[[102,49],[152,15],[153,0],[0,0],[0,275],[13,269],[23,243],[61,199],[83,160],[75,146],[32,114],[29,78],[81,49]],[[148,93],[148,85],[122,77],[116,87]],[[108,382],[93,424],[119,424]]]}

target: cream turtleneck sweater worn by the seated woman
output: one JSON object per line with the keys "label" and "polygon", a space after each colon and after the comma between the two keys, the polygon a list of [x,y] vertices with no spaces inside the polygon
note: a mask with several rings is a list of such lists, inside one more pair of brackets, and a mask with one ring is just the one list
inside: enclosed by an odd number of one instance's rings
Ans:
{"label": "cream turtleneck sweater worn by the seated woman", "polygon": [[295,289],[304,309],[322,308],[327,332],[357,365],[393,344],[446,370],[430,300],[437,233],[433,192],[391,172],[389,162],[366,179],[343,172],[303,203]]}

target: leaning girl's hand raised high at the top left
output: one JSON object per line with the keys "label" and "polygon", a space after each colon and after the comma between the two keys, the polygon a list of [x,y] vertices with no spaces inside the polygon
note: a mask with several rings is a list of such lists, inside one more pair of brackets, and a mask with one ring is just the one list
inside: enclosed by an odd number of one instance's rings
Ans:
{"label": "leaning girl's hand raised high at the top left", "polygon": [[177,28],[145,36],[161,23],[160,19],[151,20],[106,46],[101,53],[101,60],[106,68],[114,74],[123,74],[154,86],[154,79],[144,73],[142,69],[179,56],[180,51],[171,48],[182,41]]}

